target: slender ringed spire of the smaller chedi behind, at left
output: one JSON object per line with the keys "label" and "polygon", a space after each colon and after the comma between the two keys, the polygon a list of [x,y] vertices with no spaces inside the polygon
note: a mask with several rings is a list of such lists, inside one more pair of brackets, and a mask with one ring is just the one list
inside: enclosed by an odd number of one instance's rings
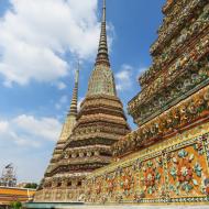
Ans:
{"label": "slender ringed spire of the smaller chedi behind, at left", "polygon": [[77,117],[77,113],[78,113],[78,110],[77,110],[77,105],[78,105],[78,77],[79,77],[79,62],[78,62],[78,68],[76,70],[75,87],[74,87],[70,109],[69,109],[69,113],[68,113],[69,116],[75,116],[75,117]]}

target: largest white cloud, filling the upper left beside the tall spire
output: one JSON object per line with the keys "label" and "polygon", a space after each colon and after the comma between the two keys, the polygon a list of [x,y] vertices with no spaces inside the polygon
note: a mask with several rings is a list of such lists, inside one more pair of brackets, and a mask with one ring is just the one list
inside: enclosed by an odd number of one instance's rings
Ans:
{"label": "largest white cloud, filling the upper left beside the tall spire", "polygon": [[97,0],[11,0],[11,4],[0,19],[0,74],[6,86],[65,77],[67,52],[84,59],[95,55]]}

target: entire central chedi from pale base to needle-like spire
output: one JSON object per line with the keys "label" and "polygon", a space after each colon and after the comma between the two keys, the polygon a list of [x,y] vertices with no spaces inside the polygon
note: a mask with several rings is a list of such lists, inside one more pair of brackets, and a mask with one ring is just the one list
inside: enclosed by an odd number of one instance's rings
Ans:
{"label": "entire central chedi from pale base to needle-like spire", "polygon": [[69,138],[67,141],[64,138],[66,143],[64,147],[62,144],[59,153],[55,150],[58,153],[56,162],[47,169],[35,201],[77,201],[84,194],[82,182],[86,176],[110,164],[111,145],[130,132],[110,68],[105,0],[95,68],[76,120],[70,135],[64,131]]}

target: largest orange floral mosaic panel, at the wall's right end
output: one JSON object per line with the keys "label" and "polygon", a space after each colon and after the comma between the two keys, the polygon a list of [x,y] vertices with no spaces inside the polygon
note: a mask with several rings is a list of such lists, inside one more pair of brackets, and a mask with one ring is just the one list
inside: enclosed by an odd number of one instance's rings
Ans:
{"label": "largest orange floral mosaic panel, at the wall's right end", "polygon": [[197,142],[172,154],[168,163],[172,196],[206,195],[208,177],[204,146]]}

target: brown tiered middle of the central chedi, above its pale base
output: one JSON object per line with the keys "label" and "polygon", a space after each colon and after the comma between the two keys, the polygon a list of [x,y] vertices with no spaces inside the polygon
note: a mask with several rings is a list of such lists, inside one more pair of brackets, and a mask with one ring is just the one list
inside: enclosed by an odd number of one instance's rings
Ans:
{"label": "brown tiered middle of the central chedi, above its pale base", "polygon": [[130,132],[122,103],[113,96],[90,96],[81,103],[58,164],[46,174],[88,173],[111,162],[110,145]]}

